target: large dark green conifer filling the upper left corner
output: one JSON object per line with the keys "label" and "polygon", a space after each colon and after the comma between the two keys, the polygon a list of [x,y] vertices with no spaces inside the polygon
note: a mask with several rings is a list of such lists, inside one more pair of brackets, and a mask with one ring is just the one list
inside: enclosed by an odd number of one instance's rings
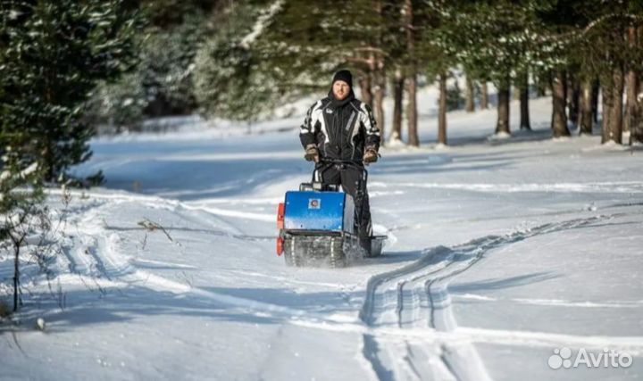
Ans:
{"label": "large dark green conifer filling the upper left corner", "polygon": [[129,69],[138,24],[125,0],[4,2],[3,137],[24,135],[48,181],[91,155],[85,102]]}

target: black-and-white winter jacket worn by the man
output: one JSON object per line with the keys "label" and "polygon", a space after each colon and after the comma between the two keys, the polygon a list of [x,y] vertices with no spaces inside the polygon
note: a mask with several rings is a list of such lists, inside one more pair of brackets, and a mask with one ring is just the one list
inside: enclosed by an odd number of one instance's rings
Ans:
{"label": "black-and-white winter jacket worn by the man", "polygon": [[353,91],[338,101],[332,95],[313,104],[299,131],[301,144],[316,145],[321,157],[361,161],[366,148],[380,149],[380,129],[371,107]]}

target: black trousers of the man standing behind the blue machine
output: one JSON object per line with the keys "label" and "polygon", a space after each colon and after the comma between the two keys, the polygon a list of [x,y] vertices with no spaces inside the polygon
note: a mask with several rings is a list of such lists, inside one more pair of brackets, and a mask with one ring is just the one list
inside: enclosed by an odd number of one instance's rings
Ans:
{"label": "black trousers of the man standing behind the blue machine", "polygon": [[[357,235],[363,239],[370,237],[372,233],[371,207],[366,190],[364,170],[344,164],[331,164],[330,166],[318,164],[316,170],[321,171],[317,173],[321,176],[323,184],[342,186],[344,192],[353,196]],[[368,241],[371,242],[370,239]]]}

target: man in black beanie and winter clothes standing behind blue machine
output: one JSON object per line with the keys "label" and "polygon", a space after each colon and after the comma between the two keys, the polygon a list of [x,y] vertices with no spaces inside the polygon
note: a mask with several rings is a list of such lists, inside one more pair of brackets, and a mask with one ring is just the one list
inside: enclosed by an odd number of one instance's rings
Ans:
{"label": "man in black beanie and winter clothes standing behind blue machine", "polygon": [[[341,185],[355,201],[355,222],[363,249],[371,252],[372,224],[363,164],[377,162],[380,129],[375,124],[371,107],[355,98],[353,76],[339,70],[332,80],[329,95],[306,113],[299,138],[305,148],[305,160],[315,162],[317,178],[324,184]],[[351,164],[324,165],[323,159]],[[359,219],[359,221],[358,221]]]}

